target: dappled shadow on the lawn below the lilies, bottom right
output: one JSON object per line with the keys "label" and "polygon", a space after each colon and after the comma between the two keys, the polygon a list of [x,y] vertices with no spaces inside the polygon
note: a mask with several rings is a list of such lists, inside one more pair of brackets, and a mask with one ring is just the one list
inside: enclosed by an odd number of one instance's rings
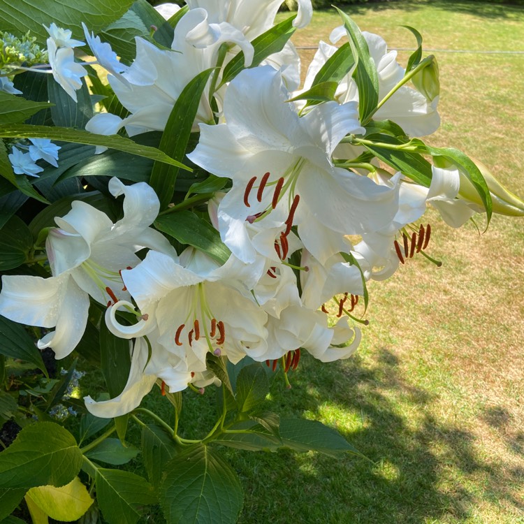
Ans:
{"label": "dappled shadow on the lawn below the lilies, bottom right", "polygon": [[[347,427],[356,429],[339,430],[372,463],[354,456],[226,451],[246,492],[240,523],[462,522],[480,501],[514,514],[524,510],[511,493],[523,472],[479,458],[474,435],[428,414],[435,396],[407,384],[397,363],[388,349],[371,365],[359,356],[330,365],[305,358],[291,391],[275,381],[272,408],[281,416],[307,412],[329,421],[333,413],[340,421],[341,412],[351,414]],[[504,419],[499,412],[487,416]],[[522,437],[512,444],[524,446]]]}

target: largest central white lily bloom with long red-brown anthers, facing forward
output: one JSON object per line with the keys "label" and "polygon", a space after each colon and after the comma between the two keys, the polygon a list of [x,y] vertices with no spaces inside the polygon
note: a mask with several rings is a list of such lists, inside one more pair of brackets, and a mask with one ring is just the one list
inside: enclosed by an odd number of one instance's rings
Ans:
{"label": "largest central white lily bloom with long red-brown anthers, facing forward", "polygon": [[[287,102],[290,97],[275,69],[242,71],[226,92],[226,123],[201,124],[200,141],[188,155],[210,173],[233,180],[219,207],[219,229],[222,240],[245,262],[252,257],[245,254],[244,242],[233,245],[230,240],[238,238],[234,232],[242,231],[246,220],[275,227],[287,217],[286,228],[297,225],[300,240],[321,259],[318,239],[310,234],[311,219],[338,238],[376,231],[398,208],[395,188],[333,166],[331,154],[340,140],[363,132],[356,104],[323,103],[300,117]],[[335,243],[333,252],[338,250]]]}

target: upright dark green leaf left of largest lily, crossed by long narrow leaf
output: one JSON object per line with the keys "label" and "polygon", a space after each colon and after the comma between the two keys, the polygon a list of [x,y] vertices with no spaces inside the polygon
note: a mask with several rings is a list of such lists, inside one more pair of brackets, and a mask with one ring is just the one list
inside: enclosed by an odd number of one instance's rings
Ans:
{"label": "upright dark green leaf left of largest lily, crossed by long narrow leaf", "polygon": [[[198,105],[200,104],[205,85],[208,83],[213,69],[207,69],[184,87],[178,97],[171,114],[169,115],[166,129],[162,134],[159,150],[169,152],[173,158],[182,161],[186,155],[187,143],[191,135]],[[182,164],[181,164],[182,165]],[[165,163],[155,161],[151,172],[150,186],[157,192],[160,208],[167,208],[177,180],[178,169],[167,166]]]}

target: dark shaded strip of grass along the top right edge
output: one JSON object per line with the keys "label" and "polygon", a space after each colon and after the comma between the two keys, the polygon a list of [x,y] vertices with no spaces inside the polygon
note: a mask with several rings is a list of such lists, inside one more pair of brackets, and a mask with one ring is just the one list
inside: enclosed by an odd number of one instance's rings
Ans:
{"label": "dark shaded strip of grass along the top right edge", "polygon": [[370,12],[384,11],[388,9],[402,9],[414,11],[423,9],[430,5],[432,8],[455,11],[484,18],[510,18],[522,15],[522,6],[510,3],[477,2],[477,1],[452,1],[452,0],[390,0],[385,2],[357,3],[352,6],[341,5],[336,1],[334,6],[346,11],[350,15],[366,15]]}

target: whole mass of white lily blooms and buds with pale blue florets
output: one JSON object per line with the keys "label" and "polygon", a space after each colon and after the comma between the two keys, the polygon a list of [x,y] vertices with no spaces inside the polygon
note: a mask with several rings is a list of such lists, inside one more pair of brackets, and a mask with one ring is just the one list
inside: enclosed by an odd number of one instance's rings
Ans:
{"label": "whole mass of white lily blooms and buds with pale blue florets", "polygon": [[[462,157],[429,150],[416,138],[439,126],[434,59],[414,60],[406,70],[380,36],[347,22],[332,34],[333,43],[347,42],[340,48],[321,42],[298,89],[293,45],[263,59],[254,45],[276,31],[280,3],[187,0],[185,12],[164,6],[166,17],[178,17],[170,48],[137,37],[129,65],[84,26],[125,110],[96,114],[86,126],[92,133],[163,131],[188,83],[213,71],[191,122],[196,147],[187,159],[208,180],[224,180],[195,209],[228,254],[218,256],[196,240],[176,252],[152,227],[162,212],[176,228],[177,205],[191,207],[191,189],[182,201],[170,195],[161,211],[157,187],[113,177],[109,191],[124,196],[122,219],[113,222],[74,201],[48,231],[52,276],[3,277],[0,313],[54,328],[38,347],[51,347],[57,358],[82,338],[90,302],[105,308],[103,322],[113,335],[129,340],[124,391],[111,400],[85,399],[97,416],[130,412],[157,381],[171,393],[188,384],[219,384],[208,365],[212,356],[233,364],[249,356],[273,362],[274,369],[280,362],[284,373],[296,368],[304,350],[323,362],[347,358],[361,340],[359,325],[367,322],[366,282],[391,277],[417,254],[439,264],[426,253],[428,205],[451,226],[488,209],[492,197],[493,210],[523,214],[522,202],[489,176],[476,167],[472,175]],[[293,28],[304,27],[312,14],[309,0],[298,8]],[[84,43],[54,24],[46,29],[54,79],[76,100],[86,70],[74,48]],[[363,67],[374,85],[371,108]],[[27,154],[13,147],[15,173],[36,175],[27,155],[56,165],[56,147],[31,142]],[[391,150],[412,155],[402,159],[418,159],[421,167],[403,168],[388,157]],[[422,154],[433,157],[432,165]]]}

